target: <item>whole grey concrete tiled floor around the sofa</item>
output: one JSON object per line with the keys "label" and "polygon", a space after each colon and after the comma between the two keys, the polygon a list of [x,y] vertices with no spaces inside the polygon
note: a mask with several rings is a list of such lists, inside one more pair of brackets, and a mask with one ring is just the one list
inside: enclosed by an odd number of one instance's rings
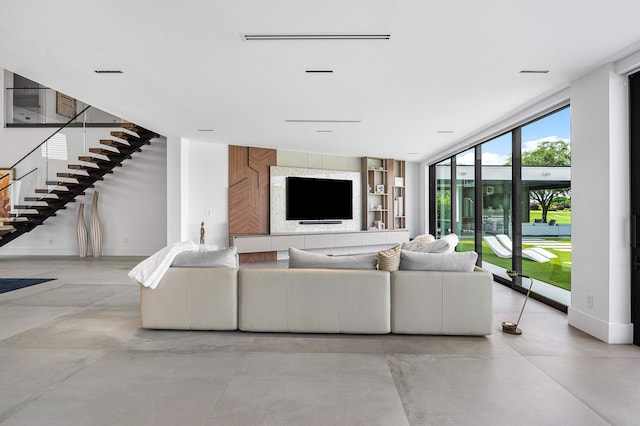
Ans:
{"label": "whole grey concrete tiled floor around the sofa", "polygon": [[640,347],[496,284],[488,337],[139,327],[132,257],[0,257],[3,425],[640,424]]}

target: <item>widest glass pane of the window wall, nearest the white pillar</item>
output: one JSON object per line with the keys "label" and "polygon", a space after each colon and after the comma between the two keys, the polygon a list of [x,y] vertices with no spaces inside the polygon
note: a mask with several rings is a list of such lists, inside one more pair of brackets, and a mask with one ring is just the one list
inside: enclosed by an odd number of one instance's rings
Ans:
{"label": "widest glass pane of the window wall, nearest the white pillar", "polygon": [[555,287],[536,284],[563,304],[571,290],[570,114],[565,108],[522,127],[522,273]]}

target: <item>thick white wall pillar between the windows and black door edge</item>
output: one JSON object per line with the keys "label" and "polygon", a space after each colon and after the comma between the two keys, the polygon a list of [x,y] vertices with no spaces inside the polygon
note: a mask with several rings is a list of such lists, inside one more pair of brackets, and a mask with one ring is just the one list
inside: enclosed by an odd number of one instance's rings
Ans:
{"label": "thick white wall pillar between the windows and black door edge", "polygon": [[571,84],[569,324],[608,343],[631,343],[633,331],[626,82],[607,65]]}

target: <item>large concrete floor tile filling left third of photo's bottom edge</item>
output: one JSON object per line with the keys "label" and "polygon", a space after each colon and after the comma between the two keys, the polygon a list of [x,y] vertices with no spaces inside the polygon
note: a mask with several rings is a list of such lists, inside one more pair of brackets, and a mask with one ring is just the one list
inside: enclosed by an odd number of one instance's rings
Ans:
{"label": "large concrete floor tile filling left third of photo's bottom edge", "polygon": [[113,353],[43,392],[6,424],[204,424],[243,357],[224,352]]}

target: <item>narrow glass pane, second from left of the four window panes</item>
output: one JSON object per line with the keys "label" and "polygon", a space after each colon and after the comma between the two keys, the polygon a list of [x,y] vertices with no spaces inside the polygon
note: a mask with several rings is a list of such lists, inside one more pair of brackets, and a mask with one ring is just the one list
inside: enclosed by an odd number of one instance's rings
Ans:
{"label": "narrow glass pane, second from left of the four window panes", "polygon": [[475,250],[475,148],[456,156],[455,230],[457,251]]}

